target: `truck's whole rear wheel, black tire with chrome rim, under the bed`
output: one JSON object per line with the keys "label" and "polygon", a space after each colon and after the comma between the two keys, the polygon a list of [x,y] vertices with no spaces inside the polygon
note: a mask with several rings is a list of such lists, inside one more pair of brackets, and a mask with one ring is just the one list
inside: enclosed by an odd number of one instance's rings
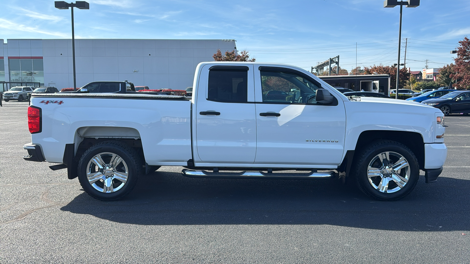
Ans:
{"label": "truck's whole rear wheel, black tire with chrome rim, under the bed", "polygon": [[[107,158],[112,154],[115,154],[122,159],[122,161],[116,164],[116,166],[111,166],[112,161],[107,160]],[[98,155],[102,158],[103,163],[110,166],[105,169],[100,169],[95,165],[96,163],[92,163],[92,159]],[[111,157],[109,158],[111,159]],[[115,171],[113,170],[114,172],[111,172],[112,169],[115,169]],[[86,175],[89,171],[93,171],[91,173],[95,173],[96,175],[94,179],[92,179],[95,180],[93,183],[90,183]],[[125,177],[120,178],[114,173],[123,176],[125,174],[121,173],[125,173],[125,171],[127,171],[127,178],[123,184],[123,181],[119,179],[123,179]],[[142,161],[139,154],[133,148],[118,141],[103,141],[95,144],[93,147],[85,151],[78,162],[78,180],[80,185],[87,194],[101,201],[115,201],[129,194],[137,183],[141,173]],[[109,174],[110,176],[107,176]],[[105,181],[107,182],[108,180],[110,181],[109,185],[112,187],[108,187],[111,189],[110,192],[105,192],[108,189],[105,190],[104,185]],[[102,191],[98,190],[100,187]],[[118,190],[114,190],[114,188],[117,188]]]}

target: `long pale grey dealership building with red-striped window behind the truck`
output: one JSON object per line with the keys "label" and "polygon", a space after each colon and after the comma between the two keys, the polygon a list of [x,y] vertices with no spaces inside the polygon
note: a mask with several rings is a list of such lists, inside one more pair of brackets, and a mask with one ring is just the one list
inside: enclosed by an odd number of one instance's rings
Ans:
{"label": "long pale grey dealership building with red-striped window behind the truck", "polygon": [[[27,82],[73,87],[71,39],[1,43],[0,83],[13,82],[8,88]],[[185,89],[193,85],[197,64],[213,61],[217,49],[236,52],[235,39],[75,39],[77,86],[128,80],[150,89]]]}

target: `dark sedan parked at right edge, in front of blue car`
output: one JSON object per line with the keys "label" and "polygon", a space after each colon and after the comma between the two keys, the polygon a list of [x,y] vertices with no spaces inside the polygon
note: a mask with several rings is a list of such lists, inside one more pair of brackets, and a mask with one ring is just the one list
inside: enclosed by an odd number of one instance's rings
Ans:
{"label": "dark sedan parked at right edge, in front of blue car", "polygon": [[447,116],[454,113],[470,113],[470,91],[454,91],[437,99],[429,99],[422,103],[439,108]]}

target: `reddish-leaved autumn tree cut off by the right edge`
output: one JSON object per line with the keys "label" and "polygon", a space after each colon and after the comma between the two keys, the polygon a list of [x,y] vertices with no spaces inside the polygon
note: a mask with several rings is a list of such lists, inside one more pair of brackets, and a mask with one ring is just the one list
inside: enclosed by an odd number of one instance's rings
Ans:
{"label": "reddish-leaved autumn tree cut off by the right edge", "polygon": [[467,37],[459,41],[457,58],[454,59],[454,62],[455,73],[451,73],[449,77],[457,80],[457,89],[470,88],[470,39]]}

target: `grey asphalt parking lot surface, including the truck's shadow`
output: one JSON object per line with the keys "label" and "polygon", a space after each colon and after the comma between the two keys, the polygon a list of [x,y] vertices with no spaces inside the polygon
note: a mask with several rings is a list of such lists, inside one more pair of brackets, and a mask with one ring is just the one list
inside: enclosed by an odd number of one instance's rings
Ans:
{"label": "grey asphalt parking lot surface, including the truck's shadow", "polygon": [[[337,180],[142,176],[122,201],[23,160],[26,107],[0,108],[0,263],[469,263],[470,116],[446,117],[437,183],[377,202]],[[463,235],[466,234],[466,235]]]}

